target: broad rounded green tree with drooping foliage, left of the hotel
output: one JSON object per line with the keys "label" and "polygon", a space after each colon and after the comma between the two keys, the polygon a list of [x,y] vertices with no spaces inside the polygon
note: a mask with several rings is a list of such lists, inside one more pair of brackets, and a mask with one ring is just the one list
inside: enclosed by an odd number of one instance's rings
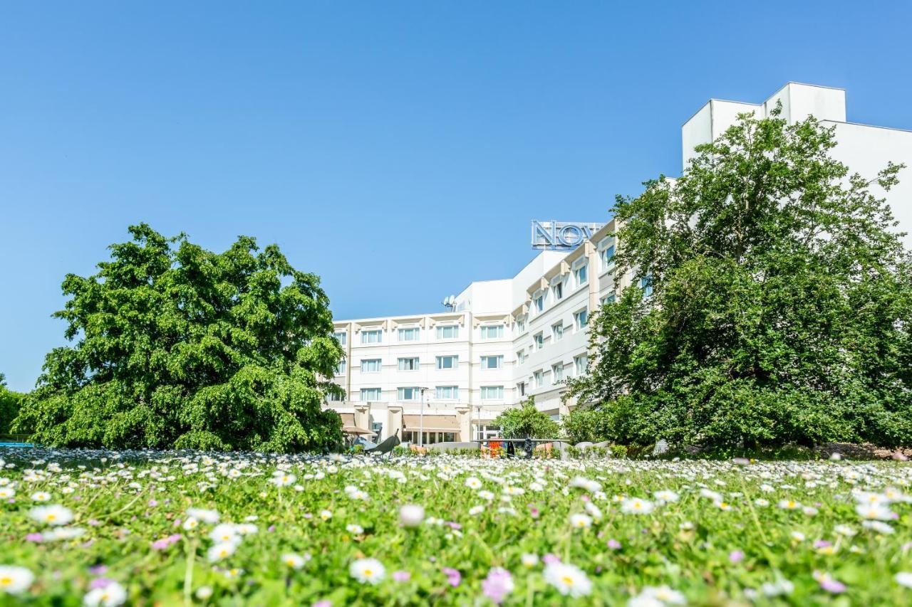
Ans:
{"label": "broad rounded green tree with drooping foliage, left of the hotel", "polygon": [[[276,245],[223,253],[130,227],[110,261],[67,275],[74,345],[47,355],[16,427],[43,444],[319,450],[341,420],[321,410],[342,351],[328,299]],[[14,429],[15,429],[14,428]]]}

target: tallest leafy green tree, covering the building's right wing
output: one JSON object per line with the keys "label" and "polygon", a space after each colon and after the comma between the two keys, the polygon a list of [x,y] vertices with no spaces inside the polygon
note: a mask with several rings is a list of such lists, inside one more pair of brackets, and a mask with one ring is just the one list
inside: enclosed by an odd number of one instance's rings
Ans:
{"label": "tallest leafy green tree, covering the building's right wing", "polygon": [[617,199],[634,282],[570,390],[606,438],[912,443],[912,273],[881,197],[901,167],[851,174],[835,144],[814,118],[744,115],[679,180]]}

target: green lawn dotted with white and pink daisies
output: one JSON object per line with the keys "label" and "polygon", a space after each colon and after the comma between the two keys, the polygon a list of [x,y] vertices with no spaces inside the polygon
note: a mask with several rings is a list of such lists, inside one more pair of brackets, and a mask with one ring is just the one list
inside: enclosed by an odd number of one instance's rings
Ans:
{"label": "green lawn dotted with white and pink daisies", "polygon": [[10,448],[0,604],[909,604],[910,481],[903,462]]}

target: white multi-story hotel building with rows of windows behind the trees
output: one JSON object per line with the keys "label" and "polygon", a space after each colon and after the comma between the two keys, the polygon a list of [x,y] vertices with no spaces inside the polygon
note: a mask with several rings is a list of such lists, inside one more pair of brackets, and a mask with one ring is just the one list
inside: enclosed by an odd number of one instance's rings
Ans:
{"label": "white multi-story hotel building with rows of windows behind the trees", "polygon": [[[832,153],[851,170],[912,166],[912,131],[845,122],[845,90],[795,83],[762,104],[710,99],[681,128],[683,165],[738,114],[767,116],[777,102],[789,122],[814,115],[833,126]],[[912,169],[887,200],[912,231]],[[471,283],[444,312],[337,321],[346,359],[336,382],[347,396],[327,406],[381,437],[418,442],[423,428],[426,444],[496,436],[492,419],[529,396],[565,414],[574,406],[565,381],[586,373],[589,315],[629,282],[614,272],[615,231],[611,221],[572,251],[539,252],[513,278]]]}

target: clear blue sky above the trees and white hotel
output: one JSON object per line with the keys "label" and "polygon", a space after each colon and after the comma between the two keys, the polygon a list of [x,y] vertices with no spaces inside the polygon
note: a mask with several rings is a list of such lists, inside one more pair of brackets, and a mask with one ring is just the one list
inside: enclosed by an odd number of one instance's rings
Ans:
{"label": "clear blue sky above the trees and white hotel", "polygon": [[[128,7],[129,5],[129,7]],[[909,3],[67,2],[0,11],[0,372],[130,223],[277,242],[337,318],[515,273],[533,218],[680,171],[710,97],[847,89],[912,129]]]}

